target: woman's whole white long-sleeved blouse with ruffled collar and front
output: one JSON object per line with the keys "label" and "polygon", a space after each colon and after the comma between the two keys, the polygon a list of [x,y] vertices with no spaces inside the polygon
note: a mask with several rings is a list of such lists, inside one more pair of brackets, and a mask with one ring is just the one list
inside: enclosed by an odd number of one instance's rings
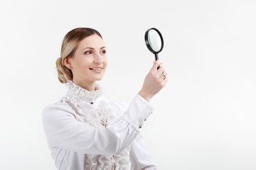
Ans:
{"label": "woman's whole white long-sleeved blouse with ruffled collar and front", "polygon": [[114,103],[97,84],[87,91],[68,81],[68,94],[43,109],[43,128],[60,170],[156,169],[139,128],[152,108],[137,94]]}

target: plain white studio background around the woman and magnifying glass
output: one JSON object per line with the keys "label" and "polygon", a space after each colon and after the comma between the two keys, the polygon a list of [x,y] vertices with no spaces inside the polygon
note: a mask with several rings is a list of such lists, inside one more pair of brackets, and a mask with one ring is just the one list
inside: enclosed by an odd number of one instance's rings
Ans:
{"label": "plain white studio background around the woman and magnifying glass", "polygon": [[69,30],[95,28],[107,46],[104,94],[130,102],[164,36],[169,82],[142,135],[159,169],[256,169],[256,1],[0,2],[0,169],[55,169],[43,107],[67,92],[55,60]]}

